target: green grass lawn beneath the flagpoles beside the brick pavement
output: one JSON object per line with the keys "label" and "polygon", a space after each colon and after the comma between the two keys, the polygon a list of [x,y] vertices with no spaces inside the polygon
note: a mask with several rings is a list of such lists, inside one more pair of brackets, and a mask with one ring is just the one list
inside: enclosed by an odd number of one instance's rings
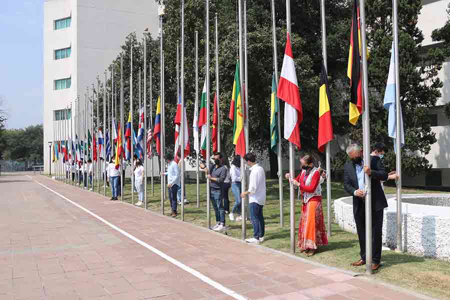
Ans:
{"label": "green grass lawn beneath the flagpoles beside the brick pavement", "polygon": [[[148,179],[148,209],[160,213],[160,184],[159,181],[154,182],[154,195],[151,195],[150,180]],[[187,183],[186,197],[189,203],[184,205],[184,220],[194,223],[199,226],[206,226],[206,184],[200,184],[200,207],[196,207],[196,186],[195,183]],[[279,200],[278,200],[278,181],[274,179],[267,180],[267,200],[264,205],[265,218],[265,240],[261,245],[277,249],[284,252],[290,252],[289,246],[289,195],[287,181],[284,185],[284,227],[279,226]],[[324,199],[323,214],[325,216],[326,224],[326,185],[323,184],[324,189],[322,194]],[[333,199],[342,196],[347,196],[343,190],[342,184],[339,182],[332,182],[332,197]],[[94,190],[96,190],[96,185]],[[386,193],[395,193],[394,187],[386,187]],[[419,189],[404,188],[403,193],[424,193],[435,192],[425,191]],[[100,193],[103,193],[102,187]],[[234,204],[234,197],[229,193],[230,207]],[[107,196],[111,196],[110,189],[106,191]],[[130,180],[125,180],[124,201],[131,202]],[[134,193],[134,203],[137,202],[137,193]],[[178,206],[179,207],[179,206]],[[164,203],[164,213],[170,213],[170,205],[168,198]],[[300,216],[300,206],[295,207],[296,229],[298,230],[298,219]],[[178,209],[179,213],[179,209]],[[331,214],[333,215],[333,214]],[[177,218],[181,215],[178,214]],[[226,230],[227,235],[241,238],[241,223],[231,222],[226,219],[227,225],[231,228]],[[214,224],[215,217],[211,205],[211,223]],[[247,223],[247,237],[252,236],[252,226],[250,222]],[[296,240],[296,239],[295,239]],[[328,245],[319,248],[319,252],[313,256],[306,257],[301,253],[301,256],[306,259],[317,261],[323,264],[348,269],[355,272],[363,273],[365,266],[353,267],[350,266],[351,261],[359,258],[359,244],[357,235],[341,230],[336,224],[332,224],[332,236],[329,238]],[[441,299],[450,299],[450,262],[425,258],[421,256],[411,255],[407,253],[397,253],[395,251],[383,251],[381,257],[382,267],[375,271],[373,276],[377,279],[383,280],[390,284],[395,284],[405,288],[410,288],[415,291],[438,297]]]}

